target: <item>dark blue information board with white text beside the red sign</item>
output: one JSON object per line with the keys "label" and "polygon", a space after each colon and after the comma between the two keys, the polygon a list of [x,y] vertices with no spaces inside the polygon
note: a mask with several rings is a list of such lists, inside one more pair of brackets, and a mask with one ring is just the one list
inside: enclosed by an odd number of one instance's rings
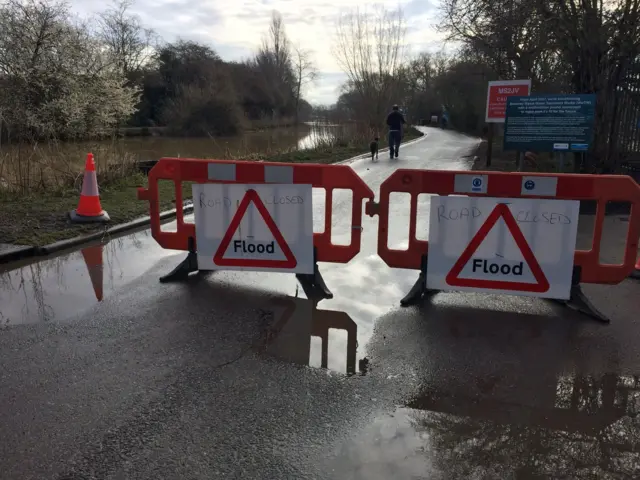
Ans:
{"label": "dark blue information board with white text beside the red sign", "polygon": [[508,97],[504,150],[585,152],[593,137],[596,96]]}

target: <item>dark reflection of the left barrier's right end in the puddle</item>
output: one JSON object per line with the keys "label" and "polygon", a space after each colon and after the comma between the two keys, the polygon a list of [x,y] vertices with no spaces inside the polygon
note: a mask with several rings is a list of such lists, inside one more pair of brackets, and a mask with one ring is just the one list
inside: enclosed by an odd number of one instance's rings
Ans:
{"label": "dark reflection of the left barrier's right end in the puddle", "polygon": [[314,302],[303,298],[274,300],[274,322],[267,339],[266,352],[287,361],[307,365],[311,355],[311,337],[322,341],[322,368],[329,368],[329,330],[347,333],[346,373],[356,373],[358,327],[351,317],[336,310],[318,310]]}

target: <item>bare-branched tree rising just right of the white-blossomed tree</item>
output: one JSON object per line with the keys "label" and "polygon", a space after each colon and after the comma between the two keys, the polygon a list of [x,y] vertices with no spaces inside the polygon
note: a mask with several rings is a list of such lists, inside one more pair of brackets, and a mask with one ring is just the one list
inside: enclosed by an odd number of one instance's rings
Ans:
{"label": "bare-branched tree rising just right of the white-blossomed tree", "polygon": [[134,0],[114,0],[111,8],[99,15],[98,27],[98,36],[114,65],[128,79],[149,62],[157,40],[153,30],[129,13],[133,4]]}

